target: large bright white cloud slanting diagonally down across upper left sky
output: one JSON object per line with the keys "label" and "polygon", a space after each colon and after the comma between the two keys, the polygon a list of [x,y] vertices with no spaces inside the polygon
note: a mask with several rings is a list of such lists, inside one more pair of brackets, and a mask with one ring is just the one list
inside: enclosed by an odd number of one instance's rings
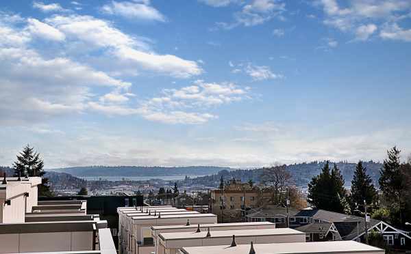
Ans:
{"label": "large bright white cloud slanting diagonally down across upper left sky", "polygon": [[105,20],[91,16],[53,16],[47,23],[64,32],[67,37],[82,40],[97,48],[108,48],[127,68],[140,68],[177,78],[189,78],[203,72],[196,61],[175,55],[158,55],[149,50],[147,43],[121,32]]}

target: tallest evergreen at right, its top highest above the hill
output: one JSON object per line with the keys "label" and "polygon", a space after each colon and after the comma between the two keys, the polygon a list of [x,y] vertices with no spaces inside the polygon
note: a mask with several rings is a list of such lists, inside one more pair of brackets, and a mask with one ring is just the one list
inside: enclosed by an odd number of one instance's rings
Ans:
{"label": "tallest evergreen at right, its top highest above the hill", "polygon": [[406,194],[406,182],[401,173],[401,165],[397,147],[387,151],[388,158],[384,160],[382,169],[379,171],[379,188],[384,193],[386,200],[390,201],[392,210],[399,210],[399,225],[403,227],[403,199]]}

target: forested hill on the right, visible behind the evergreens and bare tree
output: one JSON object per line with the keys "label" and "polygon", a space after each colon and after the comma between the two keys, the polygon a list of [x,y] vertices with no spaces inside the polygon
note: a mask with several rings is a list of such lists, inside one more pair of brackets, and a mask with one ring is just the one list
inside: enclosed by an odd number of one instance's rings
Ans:
{"label": "forested hill on the right, visible behind the evergreens and bare tree", "polygon": [[[321,172],[321,168],[324,166],[325,162],[312,162],[312,163],[300,163],[288,165],[287,169],[292,175],[292,180],[297,186],[306,187],[308,182]],[[353,178],[354,171],[356,169],[356,163],[336,163],[338,169],[340,169],[344,180],[345,186],[351,186],[351,180]],[[373,161],[364,162],[364,167],[367,169],[367,173],[371,175],[373,183],[375,186],[378,185],[379,169],[382,168],[381,163],[374,163]],[[330,165],[332,167],[332,165]],[[205,184],[207,186],[218,186],[220,183],[221,175],[223,175],[224,180],[229,180],[232,178],[241,179],[242,182],[247,182],[248,180],[253,180],[253,182],[260,182],[260,175],[262,169],[237,169],[232,171],[220,171],[214,175],[206,175],[199,178],[192,178],[186,180],[186,184]],[[188,183],[188,182],[189,183]]]}

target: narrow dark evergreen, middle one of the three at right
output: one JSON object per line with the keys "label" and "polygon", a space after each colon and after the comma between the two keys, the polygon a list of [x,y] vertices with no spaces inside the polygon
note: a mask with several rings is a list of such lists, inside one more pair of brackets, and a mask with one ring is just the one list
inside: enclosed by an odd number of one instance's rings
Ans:
{"label": "narrow dark evergreen, middle one of the three at right", "polygon": [[[351,205],[355,206],[355,203],[362,204],[364,200],[371,205],[377,201],[378,193],[375,189],[373,180],[366,173],[366,167],[362,166],[360,160],[357,164],[356,171],[354,171],[353,180],[351,180]],[[364,206],[358,206],[358,209],[364,212]]]}

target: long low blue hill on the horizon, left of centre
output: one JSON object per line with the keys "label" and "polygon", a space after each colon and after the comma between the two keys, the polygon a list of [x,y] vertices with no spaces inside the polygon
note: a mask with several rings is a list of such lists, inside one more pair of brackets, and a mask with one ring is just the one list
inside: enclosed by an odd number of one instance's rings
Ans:
{"label": "long low blue hill on the horizon, left of centre", "polygon": [[69,173],[75,176],[163,176],[163,175],[212,175],[221,170],[230,171],[229,167],[136,167],[136,166],[89,166],[89,167],[66,167],[62,169],[48,169]]}

